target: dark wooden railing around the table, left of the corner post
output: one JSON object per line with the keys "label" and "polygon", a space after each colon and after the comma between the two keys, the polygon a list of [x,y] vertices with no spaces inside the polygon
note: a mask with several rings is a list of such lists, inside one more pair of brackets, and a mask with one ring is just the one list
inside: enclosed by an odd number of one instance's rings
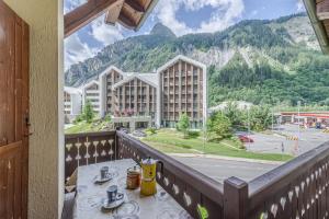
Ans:
{"label": "dark wooden railing around the table, left of the corner post", "polygon": [[[177,160],[121,131],[78,134],[66,136],[65,175],[68,177],[80,165],[132,158],[136,162],[152,157],[164,164],[163,175],[158,172],[158,183],[194,218],[196,205],[222,214],[223,185]],[[188,200],[188,201],[186,201]],[[218,208],[219,207],[219,208]]]}

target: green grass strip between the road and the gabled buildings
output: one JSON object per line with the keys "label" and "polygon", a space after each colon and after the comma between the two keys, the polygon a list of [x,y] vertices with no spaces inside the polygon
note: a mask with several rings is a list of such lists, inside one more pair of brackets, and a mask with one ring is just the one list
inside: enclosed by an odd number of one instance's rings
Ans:
{"label": "green grass strip between the road and the gabled buildings", "polygon": [[224,140],[222,142],[204,142],[202,137],[184,139],[181,132],[171,129],[160,129],[155,135],[148,135],[141,141],[166,153],[208,153],[224,157],[247,158],[268,161],[287,161],[293,157],[277,153],[254,153],[239,149],[240,142]]}

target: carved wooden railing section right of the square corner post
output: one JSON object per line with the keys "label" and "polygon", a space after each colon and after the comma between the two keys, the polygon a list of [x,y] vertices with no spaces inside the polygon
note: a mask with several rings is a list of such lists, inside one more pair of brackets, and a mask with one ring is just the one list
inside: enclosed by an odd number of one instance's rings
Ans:
{"label": "carved wooden railing section right of the square corner post", "polygon": [[251,181],[247,217],[329,218],[329,143]]}

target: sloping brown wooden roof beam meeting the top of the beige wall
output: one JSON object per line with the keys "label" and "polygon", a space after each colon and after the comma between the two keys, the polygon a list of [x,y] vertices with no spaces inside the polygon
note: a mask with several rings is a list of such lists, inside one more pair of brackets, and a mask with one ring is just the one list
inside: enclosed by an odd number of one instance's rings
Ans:
{"label": "sloping brown wooden roof beam meeting the top of the beige wall", "polygon": [[116,1],[117,0],[88,0],[87,3],[65,14],[65,37],[71,35],[79,28],[100,16]]}

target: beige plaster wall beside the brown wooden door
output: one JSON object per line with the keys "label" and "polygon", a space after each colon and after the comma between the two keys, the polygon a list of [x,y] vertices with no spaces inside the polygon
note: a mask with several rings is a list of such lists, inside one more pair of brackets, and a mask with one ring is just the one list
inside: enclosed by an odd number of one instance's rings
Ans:
{"label": "beige plaster wall beside the brown wooden door", "polygon": [[30,24],[33,136],[29,150],[29,218],[59,218],[64,198],[63,0],[4,2]]}

